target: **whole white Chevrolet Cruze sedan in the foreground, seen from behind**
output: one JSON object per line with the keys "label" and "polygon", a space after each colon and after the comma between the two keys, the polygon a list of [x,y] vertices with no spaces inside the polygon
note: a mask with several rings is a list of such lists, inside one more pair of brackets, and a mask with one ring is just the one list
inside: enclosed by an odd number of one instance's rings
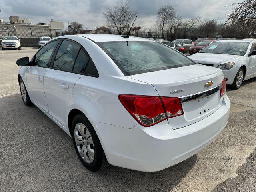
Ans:
{"label": "whole white Chevrolet Cruze sedan in the foreground, seen from behind", "polygon": [[60,36],[16,63],[24,104],[71,136],[94,172],[108,164],[163,170],[205,148],[228,122],[222,70],[145,38]]}

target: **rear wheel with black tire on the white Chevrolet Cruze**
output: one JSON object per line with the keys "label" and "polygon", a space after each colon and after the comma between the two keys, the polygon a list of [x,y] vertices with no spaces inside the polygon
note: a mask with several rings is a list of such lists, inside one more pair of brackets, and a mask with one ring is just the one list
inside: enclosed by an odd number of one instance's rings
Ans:
{"label": "rear wheel with black tire on the white Chevrolet Cruze", "polygon": [[110,165],[92,124],[83,114],[74,117],[71,136],[76,154],[88,170],[98,172]]}

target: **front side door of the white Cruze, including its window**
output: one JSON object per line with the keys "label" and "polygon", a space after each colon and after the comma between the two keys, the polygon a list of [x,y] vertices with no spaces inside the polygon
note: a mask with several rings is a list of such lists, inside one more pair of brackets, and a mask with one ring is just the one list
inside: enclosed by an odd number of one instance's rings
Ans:
{"label": "front side door of the white Cruze, including its window", "polygon": [[57,44],[58,40],[55,40],[41,48],[33,57],[32,65],[29,66],[26,73],[30,99],[46,112],[48,112],[48,106],[44,94],[44,75],[48,70],[50,58]]}

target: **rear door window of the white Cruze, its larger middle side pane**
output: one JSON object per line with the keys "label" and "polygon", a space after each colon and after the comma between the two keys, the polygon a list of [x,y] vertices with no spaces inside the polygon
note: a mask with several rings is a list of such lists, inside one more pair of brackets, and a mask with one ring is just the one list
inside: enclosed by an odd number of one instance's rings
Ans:
{"label": "rear door window of the white Cruze, its larger middle side pane", "polygon": [[72,41],[63,40],[54,58],[53,68],[72,71],[80,46]]}

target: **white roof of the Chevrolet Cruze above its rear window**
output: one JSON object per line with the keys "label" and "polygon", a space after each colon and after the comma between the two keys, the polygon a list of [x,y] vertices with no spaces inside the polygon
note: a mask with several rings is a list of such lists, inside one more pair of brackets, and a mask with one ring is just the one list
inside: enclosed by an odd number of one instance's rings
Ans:
{"label": "white roof of the Chevrolet Cruze above its rear window", "polygon": [[[151,41],[153,40],[141,38],[141,37],[133,37],[129,36],[129,38],[121,37],[121,35],[107,35],[107,34],[79,34],[77,36],[82,36],[88,38],[94,42],[108,42],[108,41]],[[60,38],[65,38],[65,36],[61,36]]]}

